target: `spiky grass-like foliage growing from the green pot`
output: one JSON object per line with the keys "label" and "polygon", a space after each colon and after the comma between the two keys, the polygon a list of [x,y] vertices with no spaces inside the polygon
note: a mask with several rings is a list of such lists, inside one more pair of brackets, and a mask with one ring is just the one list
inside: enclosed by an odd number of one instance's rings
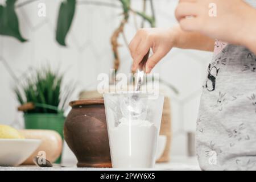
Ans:
{"label": "spiky grass-like foliage growing from the green pot", "polygon": [[14,91],[20,105],[32,104],[32,108],[23,110],[27,113],[61,113],[73,92],[73,87],[61,92],[62,83],[62,75],[44,68],[18,82]]}

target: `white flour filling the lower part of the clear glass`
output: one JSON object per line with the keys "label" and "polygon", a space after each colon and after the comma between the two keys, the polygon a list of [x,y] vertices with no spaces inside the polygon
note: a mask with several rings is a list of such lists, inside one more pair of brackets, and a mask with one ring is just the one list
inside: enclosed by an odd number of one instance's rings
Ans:
{"label": "white flour filling the lower part of the clear glass", "polygon": [[113,168],[153,168],[158,130],[154,123],[121,118],[110,128]]}

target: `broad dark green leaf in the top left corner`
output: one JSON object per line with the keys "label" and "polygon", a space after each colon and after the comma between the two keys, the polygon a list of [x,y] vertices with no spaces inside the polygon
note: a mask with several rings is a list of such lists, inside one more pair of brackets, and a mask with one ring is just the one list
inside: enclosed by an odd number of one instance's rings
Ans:
{"label": "broad dark green leaf in the top left corner", "polygon": [[20,35],[19,21],[14,10],[16,0],[6,0],[6,6],[0,5],[0,35],[13,36],[20,42],[26,39]]}

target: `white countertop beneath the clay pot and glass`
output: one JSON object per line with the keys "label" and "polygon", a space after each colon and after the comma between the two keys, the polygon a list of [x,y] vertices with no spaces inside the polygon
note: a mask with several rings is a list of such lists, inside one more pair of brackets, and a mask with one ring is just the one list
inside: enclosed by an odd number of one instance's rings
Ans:
{"label": "white countertop beneath the clay pot and glass", "polygon": [[[0,171],[113,171],[114,168],[77,168],[74,164],[64,164],[67,167],[53,166],[51,168],[40,168],[36,166],[0,167]],[[138,170],[164,170],[164,171],[198,171],[200,170],[196,158],[175,157],[170,163],[156,163],[154,169]]]}

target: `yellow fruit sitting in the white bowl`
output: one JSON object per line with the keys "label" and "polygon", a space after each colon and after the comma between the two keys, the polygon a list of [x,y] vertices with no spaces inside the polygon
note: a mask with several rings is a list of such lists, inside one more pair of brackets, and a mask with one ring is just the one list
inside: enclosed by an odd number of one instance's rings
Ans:
{"label": "yellow fruit sitting in the white bowl", "polygon": [[8,125],[0,125],[0,139],[24,139],[18,130]]}

